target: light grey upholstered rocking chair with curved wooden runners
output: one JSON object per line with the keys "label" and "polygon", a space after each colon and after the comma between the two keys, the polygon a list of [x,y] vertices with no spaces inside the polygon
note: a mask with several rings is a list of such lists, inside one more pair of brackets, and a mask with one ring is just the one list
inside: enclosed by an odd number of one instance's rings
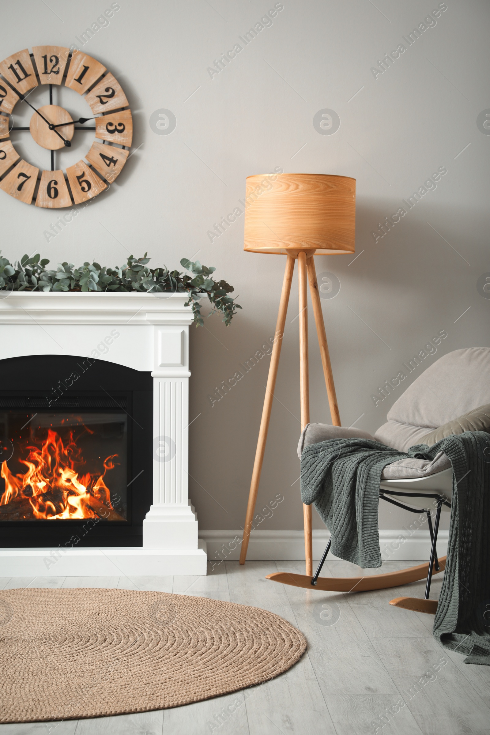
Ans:
{"label": "light grey upholstered rocking chair with curved wooden runners", "polygon": [[[412,362],[411,365],[413,366]],[[392,385],[391,387],[393,388]],[[386,390],[387,387],[384,392]],[[380,393],[383,395],[381,389]],[[384,400],[381,395],[380,401]],[[489,431],[488,423],[483,426],[479,417],[476,420],[474,416],[470,420],[459,418],[484,404],[490,404],[490,348],[456,350],[436,360],[407,388],[393,404],[386,416],[386,423],[375,432],[374,437],[358,429],[309,423],[301,432],[298,456],[301,457],[306,445],[330,439],[374,438],[398,451],[407,451],[415,444],[433,445],[449,434],[476,429]],[[488,422],[488,416],[485,420]],[[427,514],[431,539],[428,563],[372,576],[320,577],[330,551],[329,541],[314,576],[278,572],[268,575],[267,579],[305,589],[365,592],[400,587],[426,577],[425,598],[400,597],[390,600],[390,604],[435,614],[437,600],[429,600],[430,582],[434,573],[444,570],[446,562],[445,556],[438,559],[436,543],[441,512],[450,511],[453,498],[453,469],[450,460],[443,452],[439,452],[431,462],[427,459],[406,458],[387,465],[381,476],[379,497],[408,512]],[[420,507],[419,501],[422,498],[428,502]],[[436,514],[432,525],[431,510],[434,507]]]}

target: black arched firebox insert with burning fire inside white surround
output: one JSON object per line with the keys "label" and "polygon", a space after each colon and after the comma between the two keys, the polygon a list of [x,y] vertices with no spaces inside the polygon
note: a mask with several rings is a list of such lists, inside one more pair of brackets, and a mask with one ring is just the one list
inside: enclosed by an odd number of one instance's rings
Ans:
{"label": "black arched firebox insert with burning fire inside white surround", "polygon": [[151,373],[0,360],[0,546],[142,546],[152,434]]}

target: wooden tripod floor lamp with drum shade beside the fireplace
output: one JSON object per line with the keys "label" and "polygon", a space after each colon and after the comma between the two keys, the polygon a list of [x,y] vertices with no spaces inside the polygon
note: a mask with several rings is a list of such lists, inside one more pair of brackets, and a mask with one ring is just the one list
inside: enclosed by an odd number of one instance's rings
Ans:
{"label": "wooden tripod floor lamp with drum shade beside the fireplace", "polygon": [[[240,564],[245,564],[252,530],[295,259],[298,260],[300,296],[301,430],[303,431],[309,423],[307,273],[331,420],[334,426],[341,426],[313,256],[350,254],[355,251],[356,179],[320,173],[248,176],[246,193],[245,251],[284,254],[287,255],[287,261],[248,495]],[[303,520],[306,574],[311,576],[313,574],[311,506],[303,505]]]}

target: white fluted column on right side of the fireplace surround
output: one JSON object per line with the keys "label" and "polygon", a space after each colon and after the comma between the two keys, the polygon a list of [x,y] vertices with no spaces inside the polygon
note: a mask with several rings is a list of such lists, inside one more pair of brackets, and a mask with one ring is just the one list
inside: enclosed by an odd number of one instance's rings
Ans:
{"label": "white fluted column on right side of the fireplace surround", "polygon": [[143,548],[197,549],[189,500],[189,326],[155,326],[153,503]]}

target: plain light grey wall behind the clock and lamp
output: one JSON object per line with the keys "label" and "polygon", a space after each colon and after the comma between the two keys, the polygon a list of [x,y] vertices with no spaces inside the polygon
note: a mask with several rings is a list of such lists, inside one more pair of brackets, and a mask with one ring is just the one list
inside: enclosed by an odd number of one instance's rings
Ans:
{"label": "plain light grey wall behind the clock and lamp", "polygon": [[[77,43],[75,37],[109,5],[6,4],[0,55]],[[403,36],[437,1],[378,0],[375,7],[365,0],[284,0],[273,25],[211,78],[207,68],[218,55],[235,43],[244,46],[239,36],[274,5],[121,0],[109,25],[83,50],[120,77],[134,112],[137,152],[110,191],[49,243],[43,232],[54,215],[0,193],[1,248],[10,259],[40,251],[55,263],[119,265],[130,253],[148,251],[154,265],[176,267],[181,257],[197,254],[234,284],[243,311],[232,325],[226,329],[214,316],[206,329],[192,330],[190,419],[198,418],[190,427],[190,495],[201,528],[243,523],[268,358],[214,406],[208,396],[273,336],[285,265],[284,257],[242,251],[243,217],[209,240],[213,223],[239,206],[246,176],[281,167],[357,179],[359,257],[317,258],[317,272],[334,273],[341,284],[336,298],[323,301],[323,312],[345,426],[356,422],[375,431],[383,423],[401,388],[378,406],[372,393],[440,330],[447,338],[437,354],[403,385],[448,351],[489,345],[490,301],[477,290],[478,277],[490,270],[490,137],[477,126],[478,114],[490,107],[489,4],[448,0],[447,10],[408,46]],[[400,43],[406,51],[375,75],[372,67]],[[57,99],[87,114],[84,101],[67,90]],[[33,103],[40,100],[33,93]],[[170,135],[156,135],[149,124],[162,109],[176,115]],[[339,115],[334,135],[320,135],[313,126],[324,109]],[[58,157],[62,168],[87,151],[92,138],[84,135]],[[29,162],[48,168],[48,154],[29,134],[15,134],[15,140],[24,142]],[[378,223],[404,207],[402,200],[439,167],[447,174],[436,189],[375,243]],[[297,315],[294,284],[259,493],[259,507],[277,493],[285,498],[262,526],[271,530],[302,527],[295,483]],[[311,314],[310,336],[311,420],[329,423]],[[384,528],[402,523],[406,517],[395,511],[381,514]]]}

